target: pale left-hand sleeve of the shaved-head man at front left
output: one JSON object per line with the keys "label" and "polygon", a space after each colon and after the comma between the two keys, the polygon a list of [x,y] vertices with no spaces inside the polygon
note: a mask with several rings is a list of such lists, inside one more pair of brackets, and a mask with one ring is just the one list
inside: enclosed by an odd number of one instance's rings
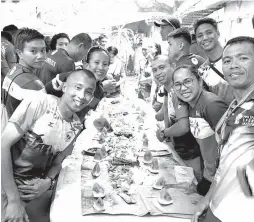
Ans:
{"label": "pale left-hand sleeve of the shaved-head man at front left", "polygon": [[22,132],[26,132],[46,112],[47,106],[48,97],[46,94],[32,99],[26,98],[16,108],[9,122],[14,123]]}

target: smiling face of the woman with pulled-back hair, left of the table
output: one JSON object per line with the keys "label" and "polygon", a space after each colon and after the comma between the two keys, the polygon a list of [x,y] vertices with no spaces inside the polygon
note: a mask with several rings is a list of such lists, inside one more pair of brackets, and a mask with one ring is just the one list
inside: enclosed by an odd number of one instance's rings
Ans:
{"label": "smiling face of the woman with pulled-back hair, left of the table", "polygon": [[88,69],[95,75],[97,81],[102,81],[108,71],[109,57],[105,52],[93,52],[88,62]]}

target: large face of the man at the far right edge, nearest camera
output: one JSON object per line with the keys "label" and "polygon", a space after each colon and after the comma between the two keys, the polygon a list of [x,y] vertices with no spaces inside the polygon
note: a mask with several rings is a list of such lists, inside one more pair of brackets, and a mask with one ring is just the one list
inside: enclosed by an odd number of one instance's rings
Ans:
{"label": "large face of the man at the far right edge, nearest camera", "polygon": [[222,56],[222,70],[227,82],[235,89],[254,84],[254,46],[248,42],[228,45]]}

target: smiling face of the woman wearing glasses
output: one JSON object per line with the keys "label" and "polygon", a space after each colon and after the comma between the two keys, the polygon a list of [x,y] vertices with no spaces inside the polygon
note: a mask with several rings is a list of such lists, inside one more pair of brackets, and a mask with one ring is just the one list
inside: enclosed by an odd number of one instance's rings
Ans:
{"label": "smiling face of the woman wearing glasses", "polygon": [[188,69],[178,69],[174,74],[174,90],[184,102],[195,101],[202,89],[202,83]]}

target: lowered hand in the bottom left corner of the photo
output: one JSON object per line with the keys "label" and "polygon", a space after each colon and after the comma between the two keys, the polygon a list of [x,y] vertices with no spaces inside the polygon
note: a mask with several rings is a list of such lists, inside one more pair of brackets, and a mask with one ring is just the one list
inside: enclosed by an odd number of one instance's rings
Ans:
{"label": "lowered hand in the bottom left corner of the photo", "polygon": [[8,202],[2,222],[29,222],[23,203],[21,201]]}

